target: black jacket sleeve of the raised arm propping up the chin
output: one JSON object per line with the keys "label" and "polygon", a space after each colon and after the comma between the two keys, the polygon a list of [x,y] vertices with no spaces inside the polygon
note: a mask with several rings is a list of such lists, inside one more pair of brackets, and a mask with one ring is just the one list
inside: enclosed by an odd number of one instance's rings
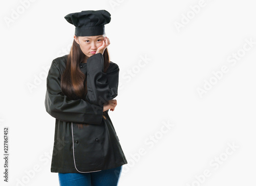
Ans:
{"label": "black jacket sleeve of the raised arm propping up the chin", "polygon": [[97,53],[87,60],[87,95],[90,103],[101,105],[117,96],[119,67],[116,63],[103,72],[104,60],[101,53]]}

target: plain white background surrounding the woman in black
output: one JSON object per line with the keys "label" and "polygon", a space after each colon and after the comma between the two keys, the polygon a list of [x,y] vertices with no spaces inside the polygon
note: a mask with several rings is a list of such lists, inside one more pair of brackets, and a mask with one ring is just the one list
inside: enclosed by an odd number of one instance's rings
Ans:
{"label": "plain white background surrounding the woman in black", "polygon": [[119,185],[255,185],[253,1],[15,0],[0,7],[1,185],[58,185],[45,69],[73,42],[75,27],[64,16],[101,9],[111,13],[105,31],[120,68],[118,105],[109,112],[129,161]]}

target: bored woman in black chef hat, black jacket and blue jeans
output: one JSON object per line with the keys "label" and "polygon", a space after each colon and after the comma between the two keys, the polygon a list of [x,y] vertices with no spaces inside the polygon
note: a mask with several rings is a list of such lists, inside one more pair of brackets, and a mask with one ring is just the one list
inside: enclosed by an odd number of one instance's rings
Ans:
{"label": "bored woman in black chef hat, black jacket and blue jeans", "polygon": [[105,10],[65,16],[75,26],[70,54],[52,61],[46,111],[56,119],[51,172],[60,185],[118,184],[127,160],[108,111],[115,110],[119,67],[110,61]]}

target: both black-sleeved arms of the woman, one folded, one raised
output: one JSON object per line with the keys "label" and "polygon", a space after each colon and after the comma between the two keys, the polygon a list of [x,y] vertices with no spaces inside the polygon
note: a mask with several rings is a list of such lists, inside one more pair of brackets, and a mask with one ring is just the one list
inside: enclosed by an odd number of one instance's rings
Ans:
{"label": "both black-sleeved arms of the woman, one folded, one raised", "polygon": [[60,87],[60,71],[55,61],[52,62],[47,76],[45,98],[46,111],[52,117],[65,121],[88,124],[100,124],[103,104],[117,96],[119,67],[113,63],[108,72],[103,73],[103,55],[91,56],[88,61],[86,100],[69,100]]}

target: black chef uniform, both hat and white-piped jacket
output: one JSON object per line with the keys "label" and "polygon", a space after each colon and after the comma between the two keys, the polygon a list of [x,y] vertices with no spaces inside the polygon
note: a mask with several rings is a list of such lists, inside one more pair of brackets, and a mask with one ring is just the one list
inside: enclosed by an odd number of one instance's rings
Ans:
{"label": "black chef uniform, both hat and white-piped jacket", "polygon": [[[75,26],[76,36],[103,35],[104,25],[111,20],[105,10],[81,11],[65,16]],[[119,138],[103,104],[117,96],[119,67],[110,62],[104,73],[101,53],[80,63],[87,77],[86,99],[70,100],[61,91],[61,74],[68,55],[54,59],[47,76],[46,111],[56,119],[51,172],[87,173],[117,168],[127,164]],[[83,125],[80,129],[76,124]],[[121,125],[121,124],[119,124]]]}

